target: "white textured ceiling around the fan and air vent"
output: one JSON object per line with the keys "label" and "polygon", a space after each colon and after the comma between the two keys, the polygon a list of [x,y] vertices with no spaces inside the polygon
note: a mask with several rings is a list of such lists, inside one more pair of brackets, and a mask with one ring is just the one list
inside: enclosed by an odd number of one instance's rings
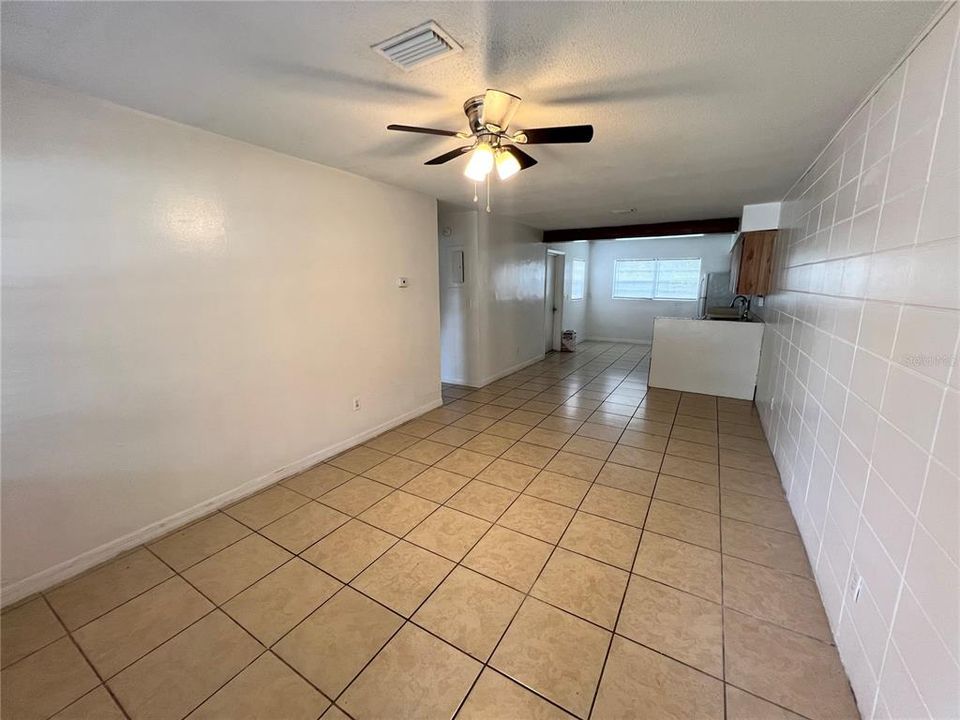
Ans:
{"label": "white textured ceiling around the fan and air vent", "polygon": [[[443,200],[424,167],[463,101],[521,95],[530,146],[497,212],[541,228],[739,215],[779,199],[939,2],[4,2],[6,68]],[[404,73],[370,45],[436,20],[464,47]],[[630,215],[614,210],[636,208]]]}

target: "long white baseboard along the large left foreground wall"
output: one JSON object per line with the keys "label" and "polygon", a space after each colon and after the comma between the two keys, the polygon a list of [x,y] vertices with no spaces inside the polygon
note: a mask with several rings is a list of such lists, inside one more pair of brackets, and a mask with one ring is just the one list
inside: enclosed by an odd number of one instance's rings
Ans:
{"label": "long white baseboard along the large left foreground wall", "polygon": [[204,500],[203,502],[198,503],[191,508],[187,508],[186,510],[182,510],[162,520],[158,520],[157,522],[151,523],[146,527],[135,530],[132,533],[128,533],[123,537],[117,538],[116,540],[111,540],[110,542],[104,543],[99,547],[95,547],[92,550],[87,550],[86,552],[80,553],[69,560],[65,560],[64,562],[58,563],[53,567],[47,568],[46,570],[41,570],[38,573],[34,573],[23,580],[18,580],[10,585],[0,587],[0,607],[5,607],[11,603],[18,602],[29,595],[42,590],[47,590],[54,585],[59,585],[65,580],[69,580],[75,575],[79,575],[80,573],[89,570],[92,567],[96,567],[107,560],[111,560],[127,550],[131,550],[135,547],[148,543],[151,540],[155,540],[163,535],[166,535],[167,533],[187,525],[194,520],[213,512],[214,510],[218,510],[222,507],[226,507],[227,505],[231,505],[238,500],[242,500],[247,495],[252,495],[262,488],[273,485],[281,480],[285,480],[288,477],[297,475],[304,470],[313,467],[317,463],[333,457],[337,453],[343,452],[344,450],[362,443],[365,440],[369,440],[370,438],[390,430],[397,425],[402,425],[408,420],[412,420],[419,415],[423,415],[423,413],[428,412],[429,410],[440,407],[442,404],[443,400],[438,395],[425,405],[422,405],[415,410],[403,413],[402,415],[399,415],[392,420],[388,420],[385,423],[381,423],[374,428],[365,430],[354,435],[353,437],[347,438],[346,440],[342,440],[334,445],[325,447],[322,450],[317,450],[306,457],[288,463],[287,465],[273,470],[266,475],[261,475],[258,478],[248,480],[232,490],[228,490],[225,493],[221,493],[220,495],[212,497],[208,500]]}

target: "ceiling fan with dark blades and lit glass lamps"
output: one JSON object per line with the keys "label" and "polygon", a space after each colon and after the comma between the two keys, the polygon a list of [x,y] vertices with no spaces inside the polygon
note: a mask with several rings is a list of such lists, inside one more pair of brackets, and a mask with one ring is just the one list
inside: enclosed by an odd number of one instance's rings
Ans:
{"label": "ceiling fan with dark blades and lit glass lamps", "polygon": [[494,167],[501,180],[508,180],[521,170],[537,164],[537,161],[521,150],[519,145],[545,145],[548,143],[587,143],[593,139],[593,125],[566,125],[563,127],[528,128],[508,132],[510,122],[520,107],[520,98],[502,90],[487,90],[463,104],[470,132],[454,132],[412,125],[387,125],[387,130],[444,135],[461,140],[472,140],[431,160],[424,165],[442,165],[461,155],[470,154],[464,175],[474,182],[487,180]]}

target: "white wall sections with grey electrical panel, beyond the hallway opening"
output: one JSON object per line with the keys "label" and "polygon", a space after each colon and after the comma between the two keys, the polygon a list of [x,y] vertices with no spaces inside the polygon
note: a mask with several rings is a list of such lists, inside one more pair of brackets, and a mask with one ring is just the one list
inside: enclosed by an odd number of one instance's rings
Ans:
{"label": "white wall sections with grey electrical panel, beyond the hallway opening", "polygon": [[[439,225],[443,381],[479,387],[543,358],[543,232],[446,203]],[[447,287],[454,247],[467,249],[462,288]]]}

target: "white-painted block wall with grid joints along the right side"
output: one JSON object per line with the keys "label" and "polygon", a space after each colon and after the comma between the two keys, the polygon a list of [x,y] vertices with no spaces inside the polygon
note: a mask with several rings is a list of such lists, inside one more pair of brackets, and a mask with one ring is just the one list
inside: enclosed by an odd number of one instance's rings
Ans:
{"label": "white-painted block wall with grid joints along the right side", "polygon": [[958,15],[788,194],[764,309],[757,401],[865,718],[960,717]]}

